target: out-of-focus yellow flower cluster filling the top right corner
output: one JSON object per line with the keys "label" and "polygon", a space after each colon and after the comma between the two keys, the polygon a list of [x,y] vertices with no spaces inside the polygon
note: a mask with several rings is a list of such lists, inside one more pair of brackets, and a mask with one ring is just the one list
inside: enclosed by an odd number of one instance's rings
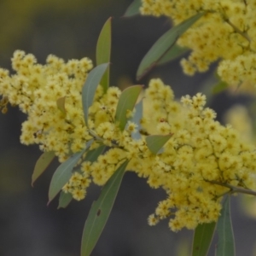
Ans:
{"label": "out-of-focus yellow flower cluster filling the top right corner", "polygon": [[192,49],[184,73],[207,71],[220,60],[218,75],[228,84],[256,84],[255,0],[142,0],[142,15],[166,15],[174,25],[205,12],[177,44]]}

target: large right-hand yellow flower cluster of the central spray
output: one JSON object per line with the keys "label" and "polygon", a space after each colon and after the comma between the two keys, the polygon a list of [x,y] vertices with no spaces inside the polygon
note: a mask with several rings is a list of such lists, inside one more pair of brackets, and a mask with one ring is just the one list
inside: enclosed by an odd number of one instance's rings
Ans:
{"label": "large right-hand yellow flower cluster of the central spray", "polygon": [[255,148],[242,143],[229,125],[214,120],[216,113],[204,108],[206,96],[183,96],[180,104],[173,101],[169,86],[154,79],[146,99],[150,115],[145,116],[144,129],[150,133],[155,126],[157,134],[172,133],[163,153],[137,160],[139,176],[168,195],[149,216],[149,224],[171,217],[172,230],[194,229],[217,221],[222,195],[230,190],[218,183],[255,189]]}

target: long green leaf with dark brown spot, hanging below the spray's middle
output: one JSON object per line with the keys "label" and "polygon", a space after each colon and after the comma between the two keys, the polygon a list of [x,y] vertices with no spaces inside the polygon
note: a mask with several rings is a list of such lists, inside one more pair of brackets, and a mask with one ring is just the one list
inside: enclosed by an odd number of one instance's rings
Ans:
{"label": "long green leaf with dark brown spot, hanging below the spray's middle", "polygon": [[81,256],[89,256],[96,242],[102,234],[105,224],[108,221],[109,214],[113,208],[113,202],[119,191],[120,183],[125,173],[128,160],[119,166],[113,176],[102,189],[102,193],[97,201],[94,201],[89,215],[84,224],[84,232],[81,244]]}

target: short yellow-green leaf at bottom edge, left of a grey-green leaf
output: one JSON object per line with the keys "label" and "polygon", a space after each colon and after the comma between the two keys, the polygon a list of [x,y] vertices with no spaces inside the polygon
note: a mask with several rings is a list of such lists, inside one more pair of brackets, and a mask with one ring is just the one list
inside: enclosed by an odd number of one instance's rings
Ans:
{"label": "short yellow-green leaf at bottom edge, left of a grey-green leaf", "polygon": [[216,222],[199,224],[194,232],[192,256],[207,256]]}

